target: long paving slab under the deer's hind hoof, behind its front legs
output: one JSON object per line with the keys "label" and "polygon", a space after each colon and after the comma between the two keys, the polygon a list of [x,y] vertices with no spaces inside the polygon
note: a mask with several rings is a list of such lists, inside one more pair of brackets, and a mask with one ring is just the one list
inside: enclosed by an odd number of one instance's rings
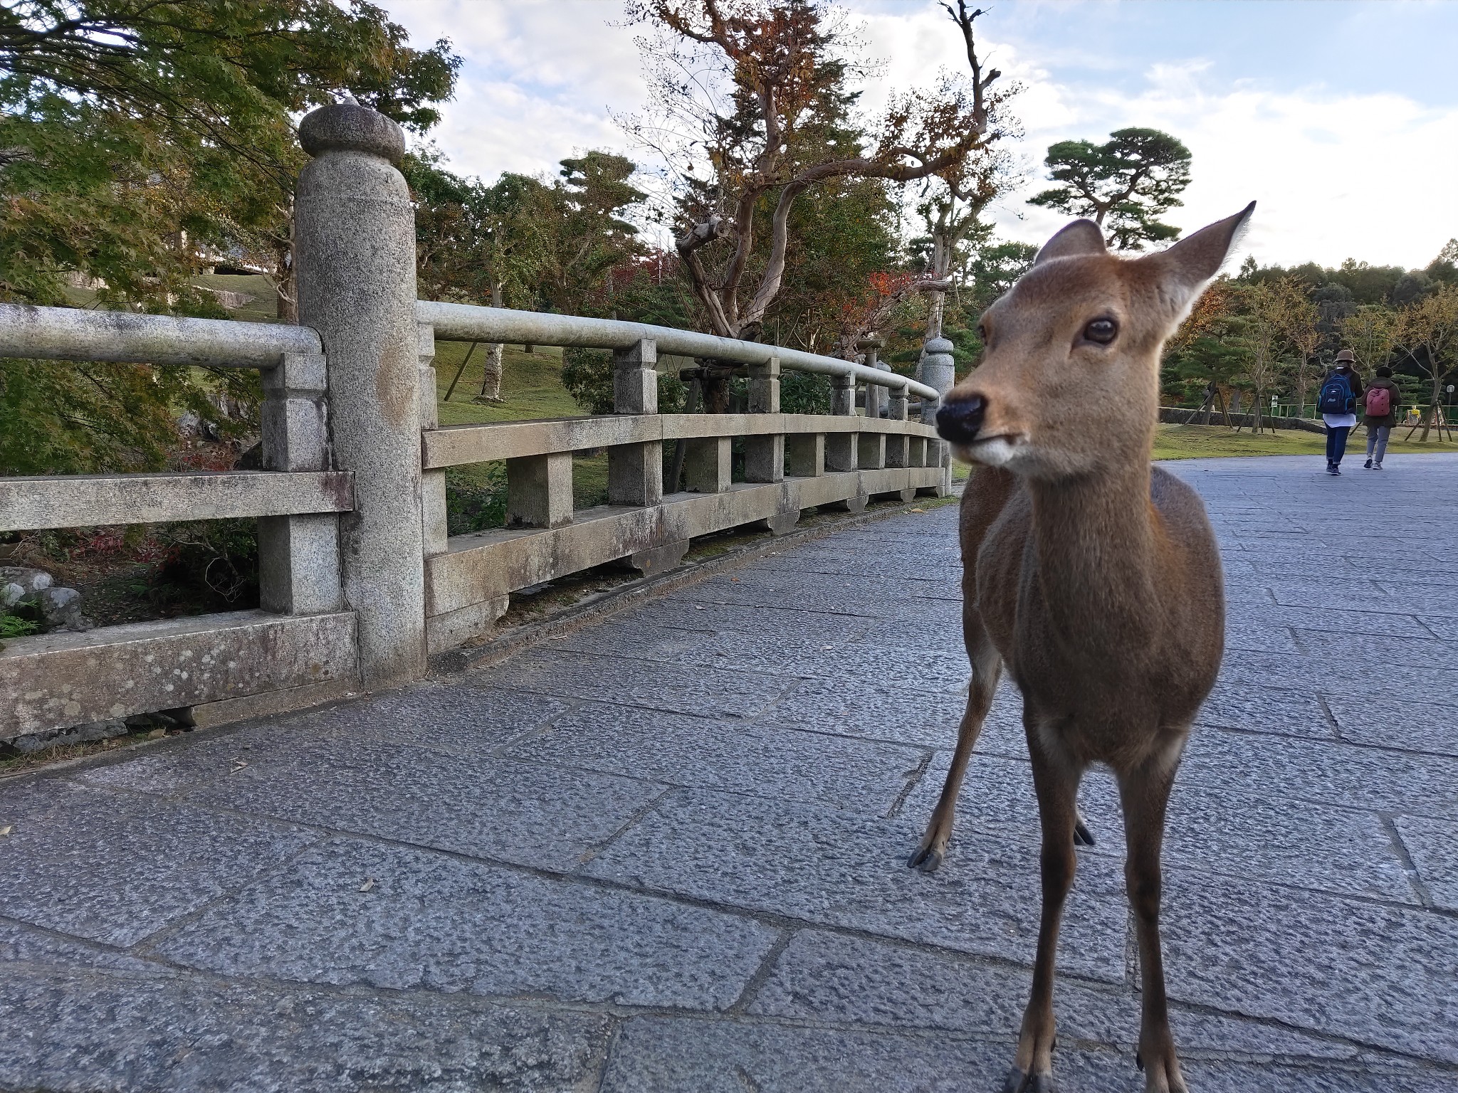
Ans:
{"label": "long paving slab under the deer's hind hoof, behind its front legs", "polygon": [[[907,869],[923,823],[678,790],[583,871],[803,922],[1031,962],[1041,906],[1037,844],[964,831],[952,858],[927,876]],[[1123,889],[1117,861],[1080,863],[1063,934],[1070,972],[1123,981]]]}

